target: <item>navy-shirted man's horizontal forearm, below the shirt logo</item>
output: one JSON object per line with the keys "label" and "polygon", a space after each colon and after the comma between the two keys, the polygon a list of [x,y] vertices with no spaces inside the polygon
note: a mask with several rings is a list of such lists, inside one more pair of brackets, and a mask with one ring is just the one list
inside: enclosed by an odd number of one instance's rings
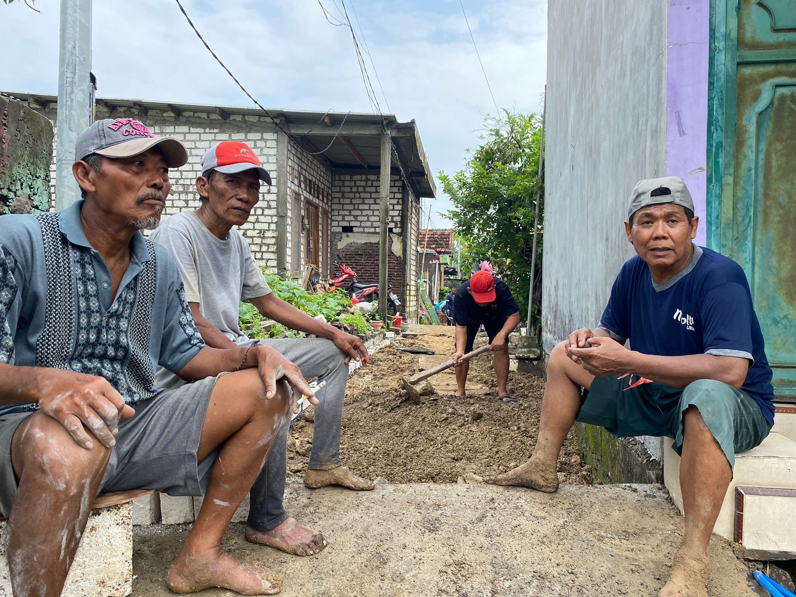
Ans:
{"label": "navy-shirted man's horizontal forearm, below the shirt logo", "polygon": [[739,357],[713,354],[689,354],[683,357],[660,357],[628,351],[628,371],[659,384],[685,388],[696,380],[717,380],[740,388],[746,379],[748,361]]}

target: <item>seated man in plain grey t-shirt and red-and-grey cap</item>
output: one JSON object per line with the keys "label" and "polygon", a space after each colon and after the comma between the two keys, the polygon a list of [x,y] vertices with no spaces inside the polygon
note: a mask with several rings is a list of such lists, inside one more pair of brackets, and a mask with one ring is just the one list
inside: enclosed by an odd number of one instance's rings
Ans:
{"label": "seated man in plain grey t-shirt and red-and-grey cap", "polygon": [[[220,142],[205,153],[201,171],[197,178],[200,208],[167,218],[151,238],[177,261],[185,298],[202,338],[216,348],[269,346],[298,365],[305,377],[326,381],[323,402],[314,413],[312,453],[304,484],[311,489],[340,485],[372,490],[373,482],[353,474],[340,459],[348,362],[352,358],[368,362],[365,345],[356,336],[311,318],[268,287],[244,236],[236,229],[246,223],[259,202],[260,183],[271,184],[271,175],[254,150],[243,142]],[[248,338],[240,330],[238,319],[242,300],[252,302],[265,317],[317,338]],[[163,374],[170,376],[169,372]],[[174,381],[164,379],[163,383],[171,386]],[[252,487],[246,537],[284,552],[309,556],[320,552],[325,541],[321,533],[299,525],[284,509],[289,427],[285,424],[279,433]]]}

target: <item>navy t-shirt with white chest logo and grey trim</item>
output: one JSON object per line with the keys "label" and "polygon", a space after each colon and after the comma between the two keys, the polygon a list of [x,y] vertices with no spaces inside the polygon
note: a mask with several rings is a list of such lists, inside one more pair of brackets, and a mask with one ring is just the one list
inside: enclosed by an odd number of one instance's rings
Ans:
{"label": "navy t-shirt with white chest logo and grey trim", "polygon": [[743,269],[708,248],[694,247],[685,270],[662,284],[639,257],[619,271],[599,326],[644,354],[715,354],[750,361],[741,389],[774,424],[774,388],[763,334]]}

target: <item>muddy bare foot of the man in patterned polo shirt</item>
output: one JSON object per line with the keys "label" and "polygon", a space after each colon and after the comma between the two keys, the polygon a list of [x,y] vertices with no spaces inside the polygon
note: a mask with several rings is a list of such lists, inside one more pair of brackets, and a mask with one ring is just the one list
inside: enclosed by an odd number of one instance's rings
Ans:
{"label": "muddy bare foot of the man in patterned polo shirt", "polygon": [[166,579],[175,593],[193,593],[222,587],[241,595],[276,595],[282,591],[279,576],[259,564],[240,564],[224,552],[210,556],[177,556]]}

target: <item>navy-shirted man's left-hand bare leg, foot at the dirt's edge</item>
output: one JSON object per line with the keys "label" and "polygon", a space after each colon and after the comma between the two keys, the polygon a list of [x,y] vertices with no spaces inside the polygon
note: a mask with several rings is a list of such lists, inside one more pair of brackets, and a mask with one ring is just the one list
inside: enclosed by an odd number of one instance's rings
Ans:
{"label": "navy-shirted man's left-hand bare leg, foot at the dirt's edge", "polygon": [[516,469],[485,478],[484,482],[530,487],[548,493],[556,491],[558,455],[578,414],[580,388],[590,388],[592,380],[594,376],[567,357],[564,342],[556,345],[550,353],[539,436],[533,455],[528,462],[517,466]]}

